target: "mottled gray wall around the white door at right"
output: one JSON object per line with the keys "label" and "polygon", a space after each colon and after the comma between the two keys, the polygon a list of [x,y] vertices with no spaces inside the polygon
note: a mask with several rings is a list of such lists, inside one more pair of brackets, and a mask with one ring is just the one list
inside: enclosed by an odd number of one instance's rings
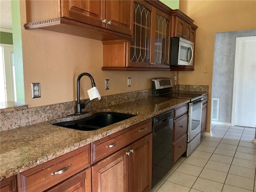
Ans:
{"label": "mottled gray wall around the white door at right", "polygon": [[212,98],[220,98],[219,122],[231,123],[236,38],[256,36],[256,30],[215,34]]}

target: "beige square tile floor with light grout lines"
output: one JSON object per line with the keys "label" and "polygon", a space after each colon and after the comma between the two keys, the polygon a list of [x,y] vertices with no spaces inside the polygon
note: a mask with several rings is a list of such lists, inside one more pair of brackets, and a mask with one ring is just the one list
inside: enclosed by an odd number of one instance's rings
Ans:
{"label": "beige square tile floor with light grout lines", "polygon": [[151,192],[256,192],[255,128],[212,125],[212,137],[162,177],[157,166]]}

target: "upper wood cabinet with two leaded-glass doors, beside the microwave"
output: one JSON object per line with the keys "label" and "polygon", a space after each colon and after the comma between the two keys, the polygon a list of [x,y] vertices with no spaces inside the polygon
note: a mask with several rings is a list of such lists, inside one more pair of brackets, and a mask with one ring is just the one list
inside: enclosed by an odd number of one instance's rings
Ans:
{"label": "upper wood cabinet with two leaded-glass doors, beside the microwave", "polygon": [[102,70],[170,70],[170,15],[134,1],[131,42],[103,42]]}

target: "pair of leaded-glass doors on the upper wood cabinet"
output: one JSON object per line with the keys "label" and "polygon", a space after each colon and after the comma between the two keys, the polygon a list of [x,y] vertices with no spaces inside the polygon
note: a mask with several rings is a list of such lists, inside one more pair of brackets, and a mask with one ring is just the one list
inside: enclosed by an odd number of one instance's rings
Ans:
{"label": "pair of leaded-glass doors on the upper wood cabinet", "polygon": [[134,2],[134,40],[129,43],[132,67],[169,68],[170,16],[146,2]]}

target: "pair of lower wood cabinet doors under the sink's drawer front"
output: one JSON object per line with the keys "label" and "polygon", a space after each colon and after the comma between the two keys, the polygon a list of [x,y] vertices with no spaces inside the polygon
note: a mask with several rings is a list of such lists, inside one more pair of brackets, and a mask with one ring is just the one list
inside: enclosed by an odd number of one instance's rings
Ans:
{"label": "pair of lower wood cabinet doors under the sink's drawer front", "polygon": [[151,178],[152,134],[92,165],[93,192],[146,192]]}

